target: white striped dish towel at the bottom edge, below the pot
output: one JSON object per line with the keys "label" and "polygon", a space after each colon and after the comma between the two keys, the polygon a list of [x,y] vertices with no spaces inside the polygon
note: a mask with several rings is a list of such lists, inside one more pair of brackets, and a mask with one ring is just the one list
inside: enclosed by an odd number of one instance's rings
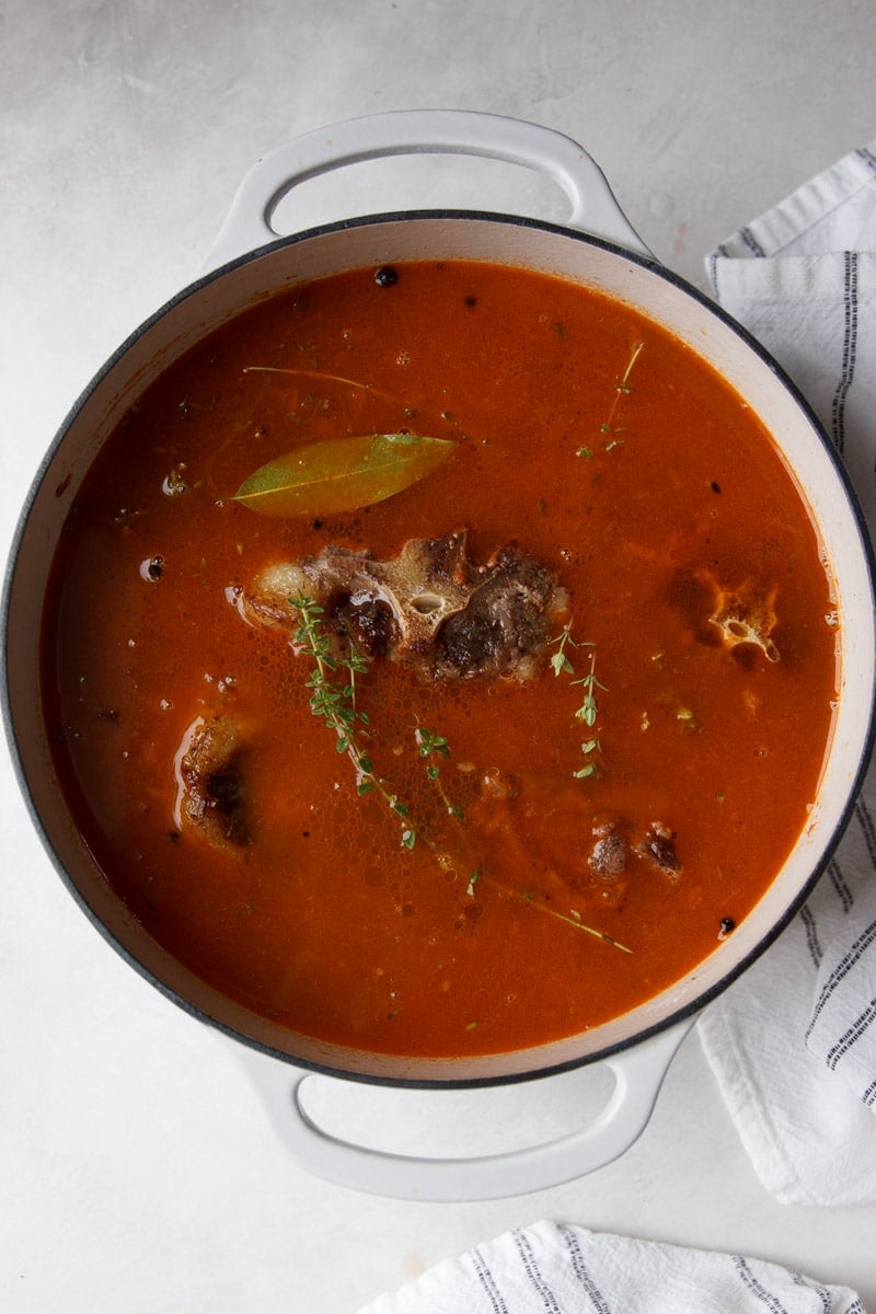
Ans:
{"label": "white striped dish towel at the bottom edge, below the pot", "polygon": [[552,1222],[448,1259],[360,1314],[864,1314],[776,1264]]}

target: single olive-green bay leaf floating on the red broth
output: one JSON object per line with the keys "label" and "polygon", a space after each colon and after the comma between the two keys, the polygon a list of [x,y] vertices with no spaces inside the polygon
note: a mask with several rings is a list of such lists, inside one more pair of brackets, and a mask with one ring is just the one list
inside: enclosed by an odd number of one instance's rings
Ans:
{"label": "single olive-green bay leaf floating on the red broth", "polygon": [[436,469],[456,443],[416,434],[368,434],[309,443],[261,465],[234,501],[278,518],[373,506]]}

